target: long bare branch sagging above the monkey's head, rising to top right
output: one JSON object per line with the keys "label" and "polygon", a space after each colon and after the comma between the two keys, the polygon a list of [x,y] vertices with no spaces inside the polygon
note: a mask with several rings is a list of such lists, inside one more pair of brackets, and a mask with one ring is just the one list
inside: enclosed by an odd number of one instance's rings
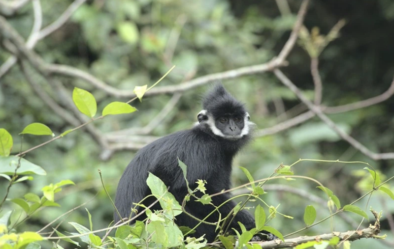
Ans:
{"label": "long bare branch sagging above the monkey's head, rising to top right", "polygon": [[[290,51],[293,49],[296,43],[299,29],[302,26],[302,22],[306,14],[308,2],[309,0],[304,0],[301,3],[301,7],[297,14],[296,24],[293,28],[289,40],[286,42],[285,46],[283,47],[278,57],[273,58],[271,61],[260,65],[241,67],[238,69],[234,69],[222,73],[206,75],[177,85],[158,86],[153,88],[151,91],[145,93],[145,96],[183,92],[212,81],[233,79],[243,75],[262,73],[266,71],[271,71],[276,67],[286,65],[287,62],[285,61],[285,59],[287,55],[289,55]],[[30,51],[28,48],[26,48],[26,46],[23,43],[23,38],[11,26],[9,26],[6,23],[6,20],[2,17],[0,18],[0,33],[3,34],[5,37],[7,37],[18,48],[19,52],[23,56],[25,56],[33,64],[33,66],[37,70],[39,70],[39,72],[43,74],[62,74],[66,76],[80,78],[88,83],[95,85],[97,88],[107,92],[108,94],[111,94],[116,97],[135,96],[132,90],[117,89],[95,78],[91,74],[86,73],[77,68],[66,66],[66,65],[48,64],[44,62],[41,57],[39,57],[38,55]]]}

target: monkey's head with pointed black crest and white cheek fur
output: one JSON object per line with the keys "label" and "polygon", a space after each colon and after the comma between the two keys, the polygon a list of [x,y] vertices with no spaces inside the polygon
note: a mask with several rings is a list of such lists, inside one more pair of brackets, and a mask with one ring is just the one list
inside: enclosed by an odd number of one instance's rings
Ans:
{"label": "monkey's head with pointed black crest and white cheek fur", "polygon": [[214,135],[230,140],[249,135],[253,125],[249,113],[222,84],[216,84],[205,96],[202,107],[204,110],[197,115],[198,123],[207,125]]}

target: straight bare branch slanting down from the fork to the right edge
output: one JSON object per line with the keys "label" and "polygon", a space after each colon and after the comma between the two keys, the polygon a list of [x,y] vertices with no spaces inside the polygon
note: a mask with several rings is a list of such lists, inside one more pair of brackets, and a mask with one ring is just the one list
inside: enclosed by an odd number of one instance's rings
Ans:
{"label": "straight bare branch slanting down from the fork to the right edge", "polygon": [[328,118],[326,114],[323,113],[323,111],[313,105],[312,102],[310,102],[303,94],[302,92],[296,87],[296,85],[287,78],[282,71],[279,69],[274,69],[273,70],[275,76],[287,87],[289,87],[290,90],[292,90],[296,96],[309,108],[309,110],[313,111],[322,121],[324,121],[328,127],[330,127],[333,131],[335,131],[342,139],[346,140],[349,142],[353,147],[356,149],[360,150],[361,153],[366,155],[367,157],[370,157],[371,159],[374,160],[383,160],[383,159],[394,159],[394,153],[374,153],[370,151],[367,147],[362,145],[359,141],[357,141],[355,138],[352,138],[346,132],[342,131],[341,129],[336,126],[334,122],[331,121],[331,119]]}

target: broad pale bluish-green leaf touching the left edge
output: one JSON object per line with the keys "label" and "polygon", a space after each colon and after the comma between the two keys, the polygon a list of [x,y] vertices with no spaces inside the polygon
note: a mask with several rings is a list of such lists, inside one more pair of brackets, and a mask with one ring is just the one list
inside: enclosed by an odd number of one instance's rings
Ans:
{"label": "broad pale bluish-green leaf touching the left edge", "polygon": [[[14,175],[15,168],[18,165],[18,160],[19,158],[16,156],[0,157],[0,173]],[[37,166],[24,158],[21,158],[21,166],[18,168],[16,173],[17,175],[46,175],[46,172],[42,167]]]}

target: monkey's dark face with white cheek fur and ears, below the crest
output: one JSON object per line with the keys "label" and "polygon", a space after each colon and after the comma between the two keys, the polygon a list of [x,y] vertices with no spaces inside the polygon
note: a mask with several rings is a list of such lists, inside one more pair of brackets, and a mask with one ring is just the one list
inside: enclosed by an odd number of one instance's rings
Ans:
{"label": "monkey's dark face with white cheek fur and ears, below the crest", "polygon": [[206,124],[213,134],[216,136],[236,140],[243,138],[250,132],[250,116],[248,112],[240,113],[226,113],[219,116],[214,116],[206,110],[200,111],[197,115],[200,124]]}

